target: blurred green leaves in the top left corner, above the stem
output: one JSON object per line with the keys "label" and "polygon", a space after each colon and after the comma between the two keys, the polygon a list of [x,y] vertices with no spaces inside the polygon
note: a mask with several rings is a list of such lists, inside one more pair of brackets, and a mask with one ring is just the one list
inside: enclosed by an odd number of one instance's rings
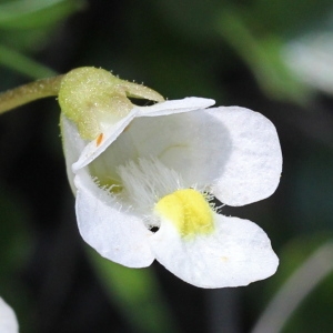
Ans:
{"label": "blurred green leaves in the top left corner, above the stem", "polygon": [[56,72],[32,60],[24,52],[42,50],[53,30],[78,9],[84,0],[13,0],[0,2],[0,64],[32,79]]}

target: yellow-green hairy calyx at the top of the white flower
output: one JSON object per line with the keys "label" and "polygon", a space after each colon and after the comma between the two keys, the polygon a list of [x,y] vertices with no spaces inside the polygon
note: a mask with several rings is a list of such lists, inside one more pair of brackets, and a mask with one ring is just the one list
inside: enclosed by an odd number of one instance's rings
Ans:
{"label": "yellow-green hairy calyx at the top of the white flower", "polygon": [[59,103],[84,140],[93,140],[132,109],[129,97],[163,101],[163,97],[142,84],[121,80],[93,67],[70,71],[61,81]]}

